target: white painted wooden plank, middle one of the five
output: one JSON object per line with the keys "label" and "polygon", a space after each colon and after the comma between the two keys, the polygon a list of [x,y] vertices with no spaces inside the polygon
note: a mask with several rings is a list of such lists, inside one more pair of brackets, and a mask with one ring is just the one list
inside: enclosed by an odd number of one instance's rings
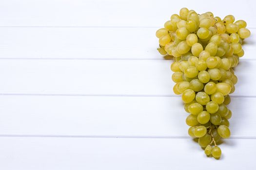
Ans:
{"label": "white painted wooden plank, middle one of the five", "polygon": [[[0,93],[174,95],[168,60],[1,60]],[[233,95],[256,96],[256,61],[240,61]]]}

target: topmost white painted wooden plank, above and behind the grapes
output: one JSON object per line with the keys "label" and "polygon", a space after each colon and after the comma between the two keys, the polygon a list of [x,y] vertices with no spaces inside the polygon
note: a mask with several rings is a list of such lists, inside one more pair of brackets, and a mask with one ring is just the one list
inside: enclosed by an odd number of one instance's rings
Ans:
{"label": "topmost white painted wooden plank, above and behind the grapes", "polygon": [[179,9],[232,14],[256,27],[255,1],[226,0],[3,0],[1,26],[159,27]]}

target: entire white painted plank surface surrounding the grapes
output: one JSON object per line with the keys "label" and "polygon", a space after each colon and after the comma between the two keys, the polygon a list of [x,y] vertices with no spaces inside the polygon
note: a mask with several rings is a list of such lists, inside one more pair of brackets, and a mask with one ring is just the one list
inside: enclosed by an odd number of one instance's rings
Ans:
{"label": "entire white painted plank surface surrounding the grapes", "polygon": [[[254,169],[255,2],[2,0],[1,170]],[[232,136],[220,160],[187,135],[155,31],[182,7],[244,19]]]}

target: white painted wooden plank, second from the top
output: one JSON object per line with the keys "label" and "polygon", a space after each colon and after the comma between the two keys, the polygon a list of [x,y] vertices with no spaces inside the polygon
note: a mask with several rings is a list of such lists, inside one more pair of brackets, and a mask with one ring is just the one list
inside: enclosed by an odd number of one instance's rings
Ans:
{"label": "white painted wooden plank, second from the top", "polygon": [[[0,28],[0,58],[163,59],[158,28]],[[256,29],[243,59],[256,59]]]}

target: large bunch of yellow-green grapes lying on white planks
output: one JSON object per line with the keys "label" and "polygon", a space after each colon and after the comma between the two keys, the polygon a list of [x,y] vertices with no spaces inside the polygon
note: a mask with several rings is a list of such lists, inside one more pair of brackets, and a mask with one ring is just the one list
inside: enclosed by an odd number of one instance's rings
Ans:
{"label": "large bunch of yellow-green grapes lying on white planks", "polygon": [[234,69],[244,55],[243,39],[251,32],[244,20],[228,15],[221,19],[213,13],[197,14],[182,8],[156,32],[158,51],[171,55],[171,70],[176,83],[173,91],[181,95],[189,113],[188,134],[198,138],[207,156],[220,158],[217,143],[230,137],[229,94],[235,91]]}

